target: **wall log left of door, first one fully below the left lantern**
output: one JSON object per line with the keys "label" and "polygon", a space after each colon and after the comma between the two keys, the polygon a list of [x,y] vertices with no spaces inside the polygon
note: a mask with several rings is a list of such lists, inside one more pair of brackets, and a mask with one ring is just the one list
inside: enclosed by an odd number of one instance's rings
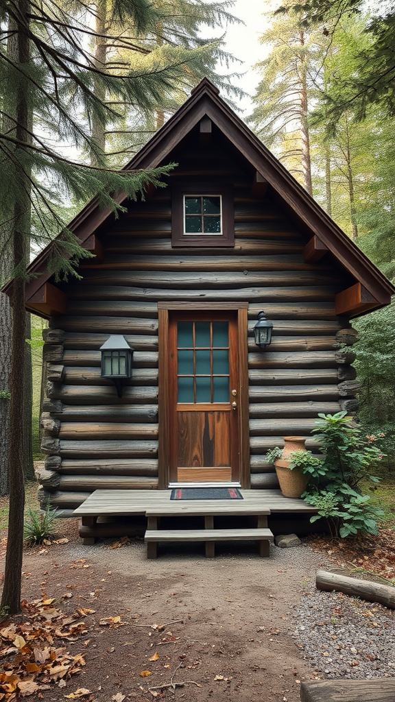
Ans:
{"label": "wall log left of door, first one fully below the left lantern", "polygon": [[51,413],[58,419],[66,422],[77,421],[108,421],[108,422],[157,422],[157,405],[67,405],[54,400]]}

